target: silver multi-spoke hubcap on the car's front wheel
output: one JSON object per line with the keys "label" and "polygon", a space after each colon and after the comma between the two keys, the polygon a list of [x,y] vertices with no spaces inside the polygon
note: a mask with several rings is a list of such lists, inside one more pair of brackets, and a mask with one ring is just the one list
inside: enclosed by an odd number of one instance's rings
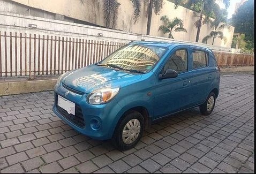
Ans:
{"label": "silver multi-spoke hubcap on the car's front wheel", "polygon": [[140,134],[140,121],[131,119],[123,129],[123,141],[126,144],[134,142]]}

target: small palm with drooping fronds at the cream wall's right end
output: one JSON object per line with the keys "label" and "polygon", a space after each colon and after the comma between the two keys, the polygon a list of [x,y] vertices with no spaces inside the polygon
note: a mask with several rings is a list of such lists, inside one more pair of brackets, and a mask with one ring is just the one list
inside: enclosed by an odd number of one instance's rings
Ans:
{"label": "small palm with drooping fronds at the cream wall's right end", "polygon": [[222,23],[222,22],[225,22],[225,18],[221,16],[221,14],[214,21],[209,20],[209,26],[210,28],[213,29],[213,31],[210,32],[209,35],[205,36],[204,39],[202,39],[202,43],[207,44],[207,40],[210,39],[211,37],[213,38],[212,45],[214,44],[214,40],[216,37],[219,37],[221,40],[224,39],[224,41],[227,40],[227,38],[223,36],[222,30],[224,28],[227,28],[230,31],[230,26],[227,23]]}

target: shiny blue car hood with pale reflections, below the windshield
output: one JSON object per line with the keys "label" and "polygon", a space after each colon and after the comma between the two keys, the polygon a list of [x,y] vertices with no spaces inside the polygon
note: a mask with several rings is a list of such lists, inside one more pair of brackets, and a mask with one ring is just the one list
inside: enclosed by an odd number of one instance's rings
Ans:
{"label": "shiny blue car hood with pale reflections, below the windshield", "polygon": [[141,74],[131,74],[103,66],[90,65],[68,73],[62,83],[82,93],[91,93],[93,90],[104,87],[122,87],[141,78]]}

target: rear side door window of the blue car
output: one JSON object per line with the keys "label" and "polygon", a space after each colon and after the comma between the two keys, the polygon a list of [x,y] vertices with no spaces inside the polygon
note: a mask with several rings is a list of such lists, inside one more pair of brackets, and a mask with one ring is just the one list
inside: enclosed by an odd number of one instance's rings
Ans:
{"label": "rear side door window of the blue car", "polygon": [[208,66],[209,55],[206,51],[193,50],[193,69],[200,69],[202,67]]}

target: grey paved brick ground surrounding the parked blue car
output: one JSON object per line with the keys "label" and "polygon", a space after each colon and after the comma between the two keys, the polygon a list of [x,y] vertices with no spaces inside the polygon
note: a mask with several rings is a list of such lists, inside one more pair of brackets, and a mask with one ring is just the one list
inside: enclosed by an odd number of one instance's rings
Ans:
{"label": "grey paved brick ground surrounding the parked blue car", "polygon": [[222,74],[210,116],[199,108],[181,112],[124,152],[56,117],[52,92],[2,96],[0,172],[254,173],[253,74]]}

